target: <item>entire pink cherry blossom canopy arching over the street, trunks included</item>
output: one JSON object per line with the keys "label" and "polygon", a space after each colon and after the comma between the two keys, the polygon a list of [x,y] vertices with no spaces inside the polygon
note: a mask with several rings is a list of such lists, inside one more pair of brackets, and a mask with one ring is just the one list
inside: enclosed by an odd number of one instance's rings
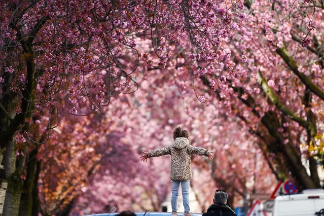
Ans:
{"label": "entire pink cherry blossom canopy arching over the street, trunks included", "polygon": [[[168,191],[158,181],[168,164],[136,157],[167,145],[177,125],[188,128],[194,145],[216,151],[211,165],[194,157],[195,166],[211,168],[208,180],[236,199],[266,191],[275,179],[320,188],[323,5],[2,1],[3,214],[63,215],[88,201],[82,193],[91,199],[101,187],[123,188],[125,167],[135,179],[129,187],[148,197],[156,190],[156,209]],[[144,181],[145,172],[152,175]],[[101,204],[88,210],[123,196],[92,199]]]}

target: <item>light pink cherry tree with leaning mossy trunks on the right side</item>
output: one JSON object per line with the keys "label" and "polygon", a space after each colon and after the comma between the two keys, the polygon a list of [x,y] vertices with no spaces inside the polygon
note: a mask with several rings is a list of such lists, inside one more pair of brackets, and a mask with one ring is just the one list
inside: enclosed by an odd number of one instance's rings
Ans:
{"label": "light pink cherry tree with leaning mossy trunks on the right side", "polygon": [[[249,112],[235,114],[260,137],[260,149],[275,163],[276,176],[295,178],[301,189],[319,188],[323,131],[316,116],[322,107],[323,68],[321,33],[315,26],[321,25],[322,7],[293,1],[244,5],[249,22],[228,40],[234,55],[248,53],[248,59],[235,64],[227,86],[236,105],[244,104]],[[301,161],[308,161],[309,173]]]}

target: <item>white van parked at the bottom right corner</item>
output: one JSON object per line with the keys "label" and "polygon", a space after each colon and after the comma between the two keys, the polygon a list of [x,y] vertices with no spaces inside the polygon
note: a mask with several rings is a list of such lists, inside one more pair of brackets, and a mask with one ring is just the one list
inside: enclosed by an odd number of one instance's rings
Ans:
{"label": "white van parked at the bottom right corner", "polygon": [[278,196],[272,216],[324,216],[324,191],[305,190],[302,194]]}

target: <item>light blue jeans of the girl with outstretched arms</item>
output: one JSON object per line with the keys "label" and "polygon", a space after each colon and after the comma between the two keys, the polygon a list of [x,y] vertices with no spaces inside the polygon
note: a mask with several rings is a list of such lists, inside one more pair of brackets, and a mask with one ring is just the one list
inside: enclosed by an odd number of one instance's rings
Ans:
{"label": "light blue jeans of the girl with outstretched arms", "polygon": [[171,197],[171,207],[172,211],[178,211],[178,195],[179,195],[179,186],[181,184],[182,198],[184,200],[185,212],[190,212],[189,207],[189,181],[172,181],[172,197]]}

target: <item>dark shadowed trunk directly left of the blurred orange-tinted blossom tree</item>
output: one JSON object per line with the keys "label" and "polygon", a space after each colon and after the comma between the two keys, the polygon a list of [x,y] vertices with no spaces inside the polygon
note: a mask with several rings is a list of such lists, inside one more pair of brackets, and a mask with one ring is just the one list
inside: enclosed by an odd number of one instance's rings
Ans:
{"label": "dark shadowed trunk directly left of the blurred orange-tinted blossom tree", "polygon": [[27,176],[26,181],[23,184],[23,190],[21,193],[21,201],[19,207],[19,216],[31,216],[33,206],[33,190],[34,190],[34,177],[37,169],[38,147],[32,150],[28,156]]}

